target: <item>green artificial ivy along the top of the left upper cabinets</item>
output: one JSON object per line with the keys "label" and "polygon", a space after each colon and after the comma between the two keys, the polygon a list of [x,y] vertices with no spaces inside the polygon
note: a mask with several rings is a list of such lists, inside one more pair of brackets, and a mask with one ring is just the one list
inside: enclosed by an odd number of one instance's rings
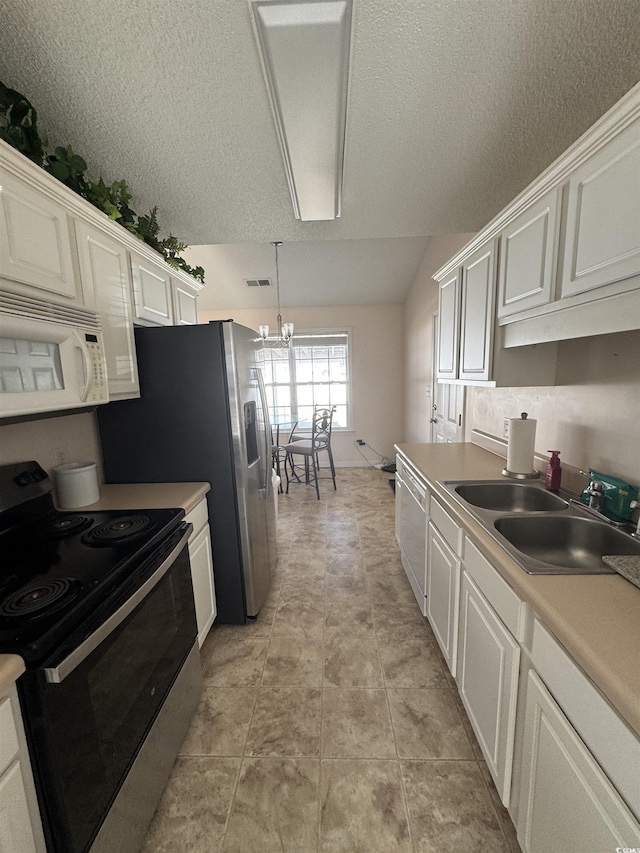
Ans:
{"label": "green artificial ivy along the top of the left upper cabinets", "polygon": [[160,237],[158,208],[153,207],[143,216],[129,207],[131,193],[127,182],[114,181],[106,184],[102,176],[98,180],[87,177],[87,163],[76,154],[70,145],[58,146],[47,152],[47,138],[38,132],[38,114],[33,105],[15,89],[9,89],[0,81],[0,139],[17,148],[21,154],[33,160],[78,195],[86,198],[109,219],[118,222],[140,240],[159,252],[174,269],[182,269],[204,283],[204,269],[192,267],[180,257],[187,244],[173,235]]}

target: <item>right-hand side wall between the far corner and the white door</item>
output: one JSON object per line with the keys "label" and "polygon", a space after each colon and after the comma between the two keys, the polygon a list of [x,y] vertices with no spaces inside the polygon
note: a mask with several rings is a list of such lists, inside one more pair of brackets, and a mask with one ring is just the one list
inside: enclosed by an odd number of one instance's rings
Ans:
{"label": "right-hand side wall between the far corner and the white door", "polygon": [[438,310],[438,285],[432,275],[453,257],[473,234],[431,237],[404,303],[405,436],[406,442],[430,441],[433,314]]}

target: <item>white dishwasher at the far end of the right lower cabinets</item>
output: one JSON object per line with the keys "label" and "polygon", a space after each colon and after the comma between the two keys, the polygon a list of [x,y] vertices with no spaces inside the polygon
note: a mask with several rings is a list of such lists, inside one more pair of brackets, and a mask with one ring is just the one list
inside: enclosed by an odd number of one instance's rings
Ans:
{"label": "white dishwasher at the far end of the right lower cabinets", "polygon": [[396,501],[402,565],[420,612],[427,615],[427,487],[406,465],[397,466]]}

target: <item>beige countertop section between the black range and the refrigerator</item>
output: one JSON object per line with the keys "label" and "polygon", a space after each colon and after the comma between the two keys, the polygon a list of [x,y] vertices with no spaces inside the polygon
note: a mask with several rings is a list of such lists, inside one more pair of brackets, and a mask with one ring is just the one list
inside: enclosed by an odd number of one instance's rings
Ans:
{"label": "beige countertop section between the black range and the refrigerator", "polygon": [[103,483],[100,500],[88,507],[101,509],[165,509],[182,507],[191,512],[211,486],[209,483]]}

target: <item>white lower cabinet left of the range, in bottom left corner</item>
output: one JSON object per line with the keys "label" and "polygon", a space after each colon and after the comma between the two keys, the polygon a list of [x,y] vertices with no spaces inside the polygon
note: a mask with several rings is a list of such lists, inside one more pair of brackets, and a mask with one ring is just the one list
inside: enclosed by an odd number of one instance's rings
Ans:
{"label": "white lower cabinet left of the range, in bottom left corner", "polygon": [[45,844],[16,688],[0,696],[0,851],[44,853]]}

